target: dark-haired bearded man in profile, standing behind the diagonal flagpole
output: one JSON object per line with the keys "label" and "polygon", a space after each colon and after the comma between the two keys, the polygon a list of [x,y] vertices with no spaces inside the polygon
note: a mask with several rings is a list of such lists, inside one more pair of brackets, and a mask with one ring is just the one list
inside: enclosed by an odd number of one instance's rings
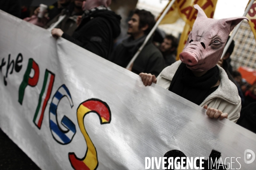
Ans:
{"label": "dark-haired bearded man in profile, standing behind the diagonal flagpole", "polygon": [[[144,9],[136,9],[131,20],[128,22],[127,34],[131,36],[123,40],[113,51],[110,61],[126,67],[134,54],[143,44],[148,33],[154,27],[154,15]],[[135,74],[148,72],[158,75],[164,68],[164,59],[161,52],[152,42],[152,37],[148,40],[137,59],[135,59],[131,70]]]}

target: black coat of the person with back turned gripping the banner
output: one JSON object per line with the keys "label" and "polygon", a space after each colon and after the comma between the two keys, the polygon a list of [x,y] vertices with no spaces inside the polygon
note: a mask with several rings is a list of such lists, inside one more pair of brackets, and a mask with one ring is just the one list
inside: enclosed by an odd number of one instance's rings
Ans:
{"label": "black coat of the person with back turned gripping the banner", "polygon": [[62,37],[108,59],[113,40],[120,34],[121,17],[110,10],[96,10],[82,18],[81,24],[71,36]]}

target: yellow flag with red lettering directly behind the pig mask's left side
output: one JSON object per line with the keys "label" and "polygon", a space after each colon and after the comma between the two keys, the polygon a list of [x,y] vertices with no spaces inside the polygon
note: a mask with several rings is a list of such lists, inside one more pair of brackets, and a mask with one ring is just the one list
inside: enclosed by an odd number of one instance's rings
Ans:
{"label": "yellow flag with red lettering directly behind the pig mask's left side", "polygon": [[176,60],[179,60],[180,53],[182,52],[188,35],[192,30],[192,26],[195,22],[197,16],[197,10],[193,7],[195,4],[198,4],[205,12],[208,18],[212,18],[217,0],[176,0],[176,6],[180,17],[186,22],[184,26],[183,33],[180,36],[179,46],[177,48]]}

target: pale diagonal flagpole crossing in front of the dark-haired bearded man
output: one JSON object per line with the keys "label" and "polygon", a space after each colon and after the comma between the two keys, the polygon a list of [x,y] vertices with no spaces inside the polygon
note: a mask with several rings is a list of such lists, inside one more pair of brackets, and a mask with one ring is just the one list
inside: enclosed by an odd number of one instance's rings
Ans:
{"label": "pale diagonal flagpole crossing in front of the dark-haired bearded man", "polygon": [[172,0],[171,3],[169,3],[169,5],[167,6],[167,8],[163,11],[163,14],[160,16],[160,18],[157,20],[157,23],[154,25],[154,27],[151,29],[151,31],[149,32],[148,36],[146,37],[145,41],[143,42],[143,44],[140,46],[140,48],[138,49],[138,51],[136,52],[136,54],[134,55],[134,57],[132,57],[131,61],[129,62],[129,64],[127,65],[126,69],[131,67],[131,64],[134,62],[134,60],[138,57],[138,55],[140,54],[140,52],[142,51],[142,49],[145,47],[146,43],[148,42],[148,40],[150,39],[150,37],[152,36],[152,34],[154,33],[154,31],[156,30],[157,26],[160,24],[160,22],[163,20],[163,17],[166,15],[166,13],[169,11],[169,9],[172,7],[172,5],[175,3],[175,0]]}

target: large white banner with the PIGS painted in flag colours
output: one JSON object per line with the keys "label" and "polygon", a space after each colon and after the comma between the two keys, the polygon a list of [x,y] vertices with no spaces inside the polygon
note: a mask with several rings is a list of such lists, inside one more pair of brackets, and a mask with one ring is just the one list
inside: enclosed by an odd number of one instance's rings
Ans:
{"label": "large white banner with the PIGS painted in flag colours", "polygon": [[173,151],[255,169],[254,133],[3,11],[0,24],[0,127],[41,169],[142,170]]}

